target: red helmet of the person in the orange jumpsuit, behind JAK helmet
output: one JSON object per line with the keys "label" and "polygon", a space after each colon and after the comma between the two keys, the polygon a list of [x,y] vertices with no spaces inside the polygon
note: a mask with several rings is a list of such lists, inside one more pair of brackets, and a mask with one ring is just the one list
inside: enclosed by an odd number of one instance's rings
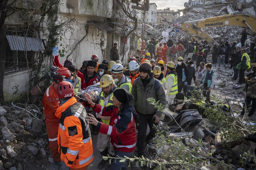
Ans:
{"label": "red helmet of the person in the orange jumpsuit, behind JAK helmet", "polygon": [[60,83],[63,79],[71,79],[70,71],[65,67],[52,67],[51,68],[51,77],[55,83]]}

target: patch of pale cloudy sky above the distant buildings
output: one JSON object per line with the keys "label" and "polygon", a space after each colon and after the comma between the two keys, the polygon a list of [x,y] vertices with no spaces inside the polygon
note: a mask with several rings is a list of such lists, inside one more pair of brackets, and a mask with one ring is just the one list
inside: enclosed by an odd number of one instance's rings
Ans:
{"label": "patch of pale cloudy sky above the distant buildings", "polygon": [[149,0],[149,3],[157,4],[157,9],[164,9],[170,7],[170,10],[177,11],[177,9],[184,9],[184,3],[188,0]]}

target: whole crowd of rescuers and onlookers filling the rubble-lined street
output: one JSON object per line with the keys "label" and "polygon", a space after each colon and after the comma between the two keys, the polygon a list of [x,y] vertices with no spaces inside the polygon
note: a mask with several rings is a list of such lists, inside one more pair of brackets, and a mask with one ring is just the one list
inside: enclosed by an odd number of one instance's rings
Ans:
{"label": "whole crowd of rescuers and onlookers filling the rubble-lined street", "polygon": [[[171,38],[152,37],[143,42],[139,37],[137,42],[138,56],[129,58],[128,67],[117,60],[117,44],[111,49],[115,61],[98,63],[99,57],[94,54],[79,69],[72,60],[61,65],[58,56],[53,56],[53,84],[45,91],[42,104],[55,169],[87,169],[94,158],[91,133],[98,134],[97,149],[102,156],[131,157],[137,149],[137,156],[142,157],[146,145],[149,148],[153,145],[156,133],[153,127],[162,116],[147,99],[153,97],[168,108],[175,96],[185,94],[194,80],[194,85],[202,88],[205,102],[210,102],[216,79],[212,68],[217,61],[219,67],[223,64],[225,68],[230,61],[233,79],[239,77],[239,83],[246,82],[245,102],[253,103],[249,116],[254,114],[256,67],[244,75],[250,68],[250,57],[244,48],[234,42],[231,45],[223,42],[220,47],[214,44],[210,63],[207,62],[210,46],[206,41],[192,43],[186,38],[175,45]],[[90,93],[89,87],[97,87],[100,92]],[[79,96],[81,90],[87,90],[83,97]],[[244,113],[245,109],[241,114]],[[150,132],[146,136],[147,126]],[[102,169],[108,161],[102,159],[98,168]],[[109,168],[127,169],[126,161],[113,159]]]}

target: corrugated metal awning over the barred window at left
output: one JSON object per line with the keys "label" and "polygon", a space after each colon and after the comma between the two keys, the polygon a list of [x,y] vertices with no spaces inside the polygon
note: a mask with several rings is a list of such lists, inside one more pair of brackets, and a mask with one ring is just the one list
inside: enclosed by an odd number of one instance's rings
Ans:
{"label": "corrugated metal awning over the barred window at left", "polygon": [[25,37],[6,35],[6,38],[9,42],[11,50],[42,51],[42,39],[26,37],[25,45]]}

